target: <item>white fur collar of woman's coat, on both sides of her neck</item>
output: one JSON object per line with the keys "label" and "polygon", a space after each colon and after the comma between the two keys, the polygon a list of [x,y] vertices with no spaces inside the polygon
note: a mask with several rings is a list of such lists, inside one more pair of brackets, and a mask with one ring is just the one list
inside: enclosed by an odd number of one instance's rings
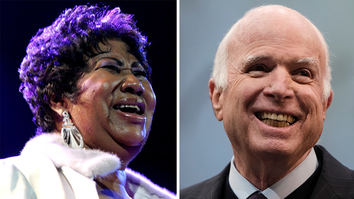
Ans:
{"label": "white fur collar of woman's coat, on both sides of her neck", "polygon": [[[96,176],[105,176],[120,168],[120,159],[113,154],[97,149],[80,150],[63,146],[59,133],[43,133],[30,139],[22,149],[21,155],[42,154],[52,160],[57,168],[69,166],[74,171],[91,180]],[[159,198],[176,198],[165,188],[152,183],[145,176],[126,168],[126,188],[134,195],[157,195]],[[139,197],[137,197],[139,198]],[[149,198],[149,197],[148,197]]]}

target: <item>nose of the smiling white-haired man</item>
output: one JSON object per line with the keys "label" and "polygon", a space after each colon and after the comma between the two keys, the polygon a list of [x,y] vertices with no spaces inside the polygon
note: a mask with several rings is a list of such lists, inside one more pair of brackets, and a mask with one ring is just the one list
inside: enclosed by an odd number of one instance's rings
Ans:
{"label": "nose of the smiling white-haired man", "polygon": [[265,82],[263,93],[266,97],[274,98],[275,101],[291,99],[295,93],[292,87],[291,75],[285,68],[274,68]]}

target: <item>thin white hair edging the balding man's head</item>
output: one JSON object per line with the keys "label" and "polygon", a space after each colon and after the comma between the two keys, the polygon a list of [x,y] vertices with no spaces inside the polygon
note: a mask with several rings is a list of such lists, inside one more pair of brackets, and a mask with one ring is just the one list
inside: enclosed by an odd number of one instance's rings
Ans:
{"label": "thin white hair edging the balding man's head", "polygon": [[[252,11],[259,10],[260,8],[268,7],[268,6],[287,8],[282,5],[263,5],[263,6],[252,8],[251,10],[247,11],[241,19],[245,18]],[[290,9],[290,8],[288,8],[288,9]],[[297,11],[295,11],[295,12],[297,12]],[[297,13],[299,13],[299,12],[297,12]],[[299,13],[299,15],[301,15],[301,13]],[[303,16],[303,15],[301,15],[301,16]],[[331,67],[330,67],[330,63],[329,63],[329,50],[328,50],[327,43],[324,39],[324,36],[320,32],[320,30],[309,19],[307,19],[305,16],[303,16],[303,17],[304,17],[304,19],[306,19],[306,21],[310,22],[310,24],[314,28],[318,38],[321,41],[321,44],[323,46],[324,53],[325,53],[325,57],[324,57],[325,72],[324,72],[324,77],[322,80],[323,81],[322,82],[322,84],[323,84],[322,102],[324,102],[325,100],[327,100],[329,98],[330,93],[331,93],[331,79],[332,79],[332,77],[331,77]],[[214,80],[216,89],[221,90],[221,91],[225,90],[228,86],[228,81],[227,81],[228,67],[227,66],[228,66],[229,56],[232,56],[228,52],[228,44],[229,44],[230,40],[232,39],[232,37],[234,36],[234,35],[232,35],[232,32],[238,28],[239,24],[241,23],[240,22],[241,19],[238,22],[236,22],[228,30],[227,34],[224,36],[224,38],[220,42],[218,49],[216,51],[214,65],[213,65],[213,72],[212,72],[211,77]]]}

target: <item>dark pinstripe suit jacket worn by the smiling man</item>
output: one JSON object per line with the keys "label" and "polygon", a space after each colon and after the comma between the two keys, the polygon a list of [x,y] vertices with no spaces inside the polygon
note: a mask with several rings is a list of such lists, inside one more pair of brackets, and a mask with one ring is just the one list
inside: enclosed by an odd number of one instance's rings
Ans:
{"label": "dark pinstripe suit jacket worn by the smiling man", "polygon": [[[354,199],[354,170],[339,163],[322,146],[315,146],[322,170],[310,199]],[[180,191],[180,198],[223,198],[230,164],[218,175]]]}

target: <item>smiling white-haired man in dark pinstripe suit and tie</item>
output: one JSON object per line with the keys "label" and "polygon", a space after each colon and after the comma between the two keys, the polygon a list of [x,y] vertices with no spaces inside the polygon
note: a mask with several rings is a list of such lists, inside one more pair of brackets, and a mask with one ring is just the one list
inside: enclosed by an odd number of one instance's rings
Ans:
{"label": "smiling white-haired man in dark pinstripe suit and tie", "polygon": [[332,101],[320,31],[279,5],[247,12],[220,43],[209,80],[234,157],[181,198],[354,198],[354,171],[319,140]]}

